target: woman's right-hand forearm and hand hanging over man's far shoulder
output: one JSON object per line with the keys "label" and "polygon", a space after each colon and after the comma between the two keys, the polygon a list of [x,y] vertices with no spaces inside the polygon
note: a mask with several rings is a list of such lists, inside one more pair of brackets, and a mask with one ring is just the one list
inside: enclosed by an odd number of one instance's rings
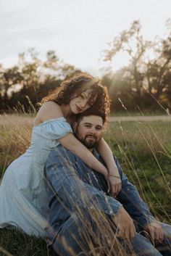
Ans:
{"label": "woman's right-hand forearm and hand hanging over man's far shoulder", "polygon": [[98,151],[101,157],[103,158],[104,162],[107,165],[108,169],[108,189],[112,195],[112,197],[116,196],[121,189],[121,179],[120,174],[117,170],[117,165],[114,162],[114,157],[112,154],[111,149],[109,148],[108,144],[104,139],[101,139],[98,145]]}

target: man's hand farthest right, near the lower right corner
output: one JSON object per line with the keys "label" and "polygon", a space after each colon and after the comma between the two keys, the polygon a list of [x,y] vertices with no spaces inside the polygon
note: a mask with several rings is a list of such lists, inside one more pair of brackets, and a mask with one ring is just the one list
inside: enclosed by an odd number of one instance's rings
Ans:
{"label": "man's hand farthest right, near the lower right corner", "polygon": [[162,243],[164,233],[162,227],[158,223],[149,223],[143,229],[149,233],[152,244]]}

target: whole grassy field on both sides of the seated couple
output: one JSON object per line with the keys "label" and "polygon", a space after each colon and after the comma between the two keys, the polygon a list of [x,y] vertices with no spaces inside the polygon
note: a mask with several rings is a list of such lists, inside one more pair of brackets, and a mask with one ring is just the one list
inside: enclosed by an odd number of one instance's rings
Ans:
{"label": "whole grassy field on both sides of the seated couple", "polygon": [[[137,187],[153,214],[171,223],[171,129],[170,122],[109,123],[104,138],[120,160],[122,169]],[[6,117],[0,125],[1,176],[12,160],[25,152],[32,119]],[[4,250],[4,252],[3,252]],[[9,228],[0,231],[0,255],[45,256],[46,244]],[[52,255],[51,253],[49,255]]]}

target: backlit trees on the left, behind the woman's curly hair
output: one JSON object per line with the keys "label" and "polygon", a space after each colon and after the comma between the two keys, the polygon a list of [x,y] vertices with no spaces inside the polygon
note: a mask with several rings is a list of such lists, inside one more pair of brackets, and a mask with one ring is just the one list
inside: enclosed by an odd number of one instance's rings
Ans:
{"label": "backlit trees on the left, behind the woman's curly hair", "polygon": [[47,52],[45,62],[38,58],[38,52],[33,48],[19,54],[18,65],[0,70],[1,110],[16,107],[20,102],[25,111],[32,111],[43,96],[77,71],[73,65],[59,60],[54,51]]}

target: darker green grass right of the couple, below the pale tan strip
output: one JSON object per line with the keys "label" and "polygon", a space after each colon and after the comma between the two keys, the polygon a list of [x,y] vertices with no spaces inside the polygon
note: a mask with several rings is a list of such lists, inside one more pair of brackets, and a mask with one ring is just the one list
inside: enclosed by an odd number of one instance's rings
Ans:
{"label": "darker green grass right of the couple, below the pale tan strip", "polygon": [[135,152],[121,155],[122,169],[138,189],[156,218],[171,224],[171,173],[170,157],[158,156],[157,161],[149,155],[138,156]]}

